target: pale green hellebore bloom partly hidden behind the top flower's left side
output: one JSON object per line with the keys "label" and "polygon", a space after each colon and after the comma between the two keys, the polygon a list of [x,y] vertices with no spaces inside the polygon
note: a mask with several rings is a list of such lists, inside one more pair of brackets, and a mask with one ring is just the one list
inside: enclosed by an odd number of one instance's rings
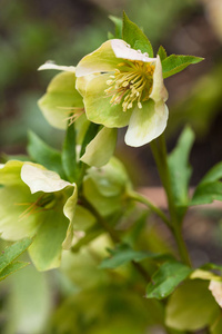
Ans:
{"label": "pale green hellebore bloom partly hidden behind the top flower's left side", "polygon": [[[90,121],[85,117],[82,96],[75,89],[75,68],[46,62],[39,70],[60,70],[48,86],[47,92],[39,100],[39,107],[49,124],[65,129],[74,122],[77,143],[81,143]],[[103,144],[107,143],[104,146]],[[117,129],[102,128],[87,148],[81,160],[90,166],[101,167],[113,155],[117,144]]]}

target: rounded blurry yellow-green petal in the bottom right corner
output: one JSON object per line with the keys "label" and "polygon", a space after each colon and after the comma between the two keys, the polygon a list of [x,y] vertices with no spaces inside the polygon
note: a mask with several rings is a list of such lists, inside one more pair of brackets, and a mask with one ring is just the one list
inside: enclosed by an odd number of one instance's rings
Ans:
{"label": "rounded blurry yellow-green petal in the bottom right corner", "polygon": [[184,282],[170,297],[167,306],[167,325],[180,331],[198,331],[211,324],[220,312],[209,282]]}

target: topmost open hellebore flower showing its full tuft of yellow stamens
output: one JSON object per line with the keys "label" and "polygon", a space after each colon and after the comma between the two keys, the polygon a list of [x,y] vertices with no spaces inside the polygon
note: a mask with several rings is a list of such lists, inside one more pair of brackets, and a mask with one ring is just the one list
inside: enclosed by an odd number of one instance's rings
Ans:
{"label": "topmost open hellebore flower showing its full tuft of yellow stamens", "polygon": [[168,91],[159,56],[149,58],[113,39],[85,56],[75,76],[87,118],[108,128],[129,126],[127,145],[142,146],[165,129]]}

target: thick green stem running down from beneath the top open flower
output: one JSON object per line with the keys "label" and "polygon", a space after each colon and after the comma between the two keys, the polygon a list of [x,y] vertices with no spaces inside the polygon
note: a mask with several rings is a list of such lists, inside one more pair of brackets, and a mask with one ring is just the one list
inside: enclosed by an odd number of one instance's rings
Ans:
{"label": "thick green stem running down from beneath the top open flower", "polygon": [[168,154],[167,154],[164,136],[161,135],[158,138],[158,140],[152,141],[150,146],[159,170],[162,185],[165,189],[165,194],[168,197],[168,205],[169,205],[169,212],[171,217],[170,228],[174,235],[181,259],[186,265],[191,266],[189,253],[182,237],[182,224],[176,214],[176,207],[174,204],[173,193],[171,188],[171,179],[170,179],[170,171],[168,166]]}

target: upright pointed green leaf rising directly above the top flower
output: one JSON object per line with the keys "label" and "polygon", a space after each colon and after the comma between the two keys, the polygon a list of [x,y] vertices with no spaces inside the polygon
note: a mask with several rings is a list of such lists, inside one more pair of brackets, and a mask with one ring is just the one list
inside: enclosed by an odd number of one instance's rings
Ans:
{"label": "upright pointed green leaf rising directly above the top flower", "polygon": [[142,32],[142,30],[133,23],[123,11],[122,39],[135,50],[148,52],[149,57],[153,57],[152,45]]}

